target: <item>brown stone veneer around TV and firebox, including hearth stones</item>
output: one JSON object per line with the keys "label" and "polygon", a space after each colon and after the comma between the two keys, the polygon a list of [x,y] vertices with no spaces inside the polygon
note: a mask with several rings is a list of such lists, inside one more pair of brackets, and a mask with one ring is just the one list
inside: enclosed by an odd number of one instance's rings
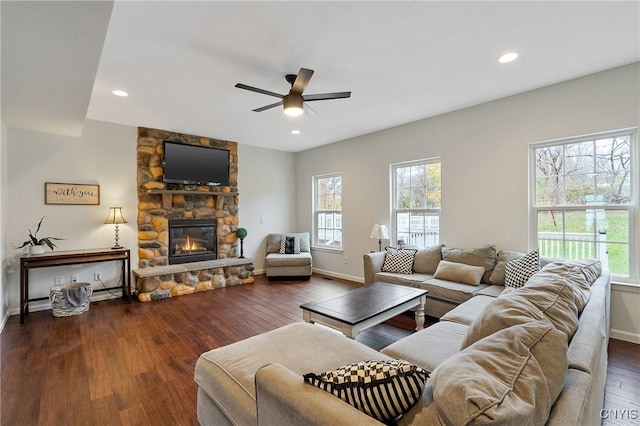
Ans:
{"label": "brown stone veneer around TV and firebox, including hearth stones", "polygon": [[[208,187],[162,182],[163,140],[191,145],[203,145],[226,149],[230,152],[229,186]],[[138,188],[138,267],[153,268],[168,264],[169,219],[217,219],[218,259],[238,256],[238,195],[216,195],[238,192],[238,147],[235,142],[186,135],[158,129],[138,128],[137,146]],[[190,194],[172,194],[171,206],[163,206],[162,194],[150,194],[150,190],[193,191]],[[220,275],[223,275],[222,280]],[[240,276],[238,276],[240,275]],[[162,292],[157,298],[188,294],[220,286],[253,282],[253,265],[246,267],[219,268],[192,271],[186,274],[169,274],[159,277],[155,291]],[[150,300],[154,290],[150,282],[136,283],[140,300]],[[200,283],[200,284],[199,284]],[[176,285],[177,284],[177,285]],[[185,286],[192,289],[183,288]],[[167,291],[168,290],[168,291]],[[179,290],[179,291],[174,291]]]}

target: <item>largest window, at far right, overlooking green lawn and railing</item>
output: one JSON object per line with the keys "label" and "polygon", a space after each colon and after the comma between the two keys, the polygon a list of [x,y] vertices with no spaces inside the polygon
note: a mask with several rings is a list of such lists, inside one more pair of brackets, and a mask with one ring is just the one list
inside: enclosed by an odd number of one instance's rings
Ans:
{"label": "largest window, at far right, overlooking green lawn and railing", "polygon": [[636,130],[531,146],[532,240],[541,256],[599,259],[637,278]]}

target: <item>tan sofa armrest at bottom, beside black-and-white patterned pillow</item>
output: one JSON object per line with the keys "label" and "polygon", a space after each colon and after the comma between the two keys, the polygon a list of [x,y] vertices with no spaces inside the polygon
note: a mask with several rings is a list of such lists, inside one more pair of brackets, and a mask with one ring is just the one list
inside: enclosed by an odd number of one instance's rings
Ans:
{"label": "tan sofa armrest at bottom, beside black-and-white patterned pillow", "polygon": [[256,372],[256,405],[260,426],[382,425],[280,364]]}

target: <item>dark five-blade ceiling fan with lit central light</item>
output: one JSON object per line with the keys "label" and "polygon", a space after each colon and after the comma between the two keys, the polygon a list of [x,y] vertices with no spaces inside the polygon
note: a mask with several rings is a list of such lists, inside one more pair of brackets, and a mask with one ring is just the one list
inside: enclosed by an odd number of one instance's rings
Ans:
{"label": "dark five-blade ceiling fan with lit central light", "polygon": [[285,76],[285,79],[287,80],[287,82],[289,82],[289,84],[291,84],[291,90],[289,90],[289,94],[287,95],[281,95],[279,93],[270,92],[268,90],[259,89],[257,87],[247,86],[246,84],[242,83],[236,84],[235,87],[282,99],[281,101],[278,101],[276,103],[256,108],[253,111],[261,112],[271,108],[275,108],[279,105],[283,105],[284,113],[292,117],[298,116],[304,111],[307,111],[307,113],[315,113],[315,111],[306,104],[307,102],[324,101],[327,99],[342,99],[351,96],[351,92],[317,93],[315,95],[303,95],[304,89],[307,88],[312,75],[313,70],[307,68],[300,68],[298,74],[287,74]]}

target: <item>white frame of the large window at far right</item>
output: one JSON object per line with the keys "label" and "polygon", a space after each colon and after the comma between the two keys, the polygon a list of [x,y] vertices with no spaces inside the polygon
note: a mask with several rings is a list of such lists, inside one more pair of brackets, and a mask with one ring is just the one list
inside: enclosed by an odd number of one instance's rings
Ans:
{"label": "white frame of the large window at far right", "polygon": [[[551,146],[565,146],[570,144],[577,144],[581,142],[590,142],[597,141],[601,139],[609,139],[614,137],[620,137],[630,135],[630,146],[629,146],[629,161],[630,161],[630,200],[625,204],[613,204],[613,203],[597,203],[597,204],[561,204],[556,206],[538,206],[536,203],[536,171],[537,171],[537,158],[536,158],[536,150],[545,147]],[[529,144],[529,248],[535,249],[538,248],[540,242],[538,241],[538,213],[540,211],[560,211],[563,214],[569,211],[576,210],[584,210],[585,214],[588,210],[594,210],[594,214],[597,214],[595,210],[604,210],[606,211],[616,211],[623,210],[628,212],[628,220],[629,220],[629,242],[628,242],[628,250],[629,250],[629,276],[618,275],[612,272],[612,278],[615,281],[629,283],[629,284],[640,284],[639,282],[639,274],[640,274],[640,265],[637,260],[638,254],[640,254],[640,236],[638,235],[638,201],[639,201],[639,192],[640,192],[640,184],[638,183],[639,178],[639,170],[640,166],[640,155],[639,152],[640,147],[638,146],[638,128],[625,128],[619,130],[612,130],[607,132],[600,133],[591,133],[582,136],[575,136],[569,138],[555,139],[544,142],[534,142]],[[563,176],[566,176],[563,174]],[[562,225],[562,233],[566,235],[568,232],[566,230],[566,223]],[[593,231],[594,236],[598,233],[597,229]],[[597,241],[597,236],[594,238]],[[562,241],[565,241],[563,237]],[[569,240],[571,241],[571,240]]]}

